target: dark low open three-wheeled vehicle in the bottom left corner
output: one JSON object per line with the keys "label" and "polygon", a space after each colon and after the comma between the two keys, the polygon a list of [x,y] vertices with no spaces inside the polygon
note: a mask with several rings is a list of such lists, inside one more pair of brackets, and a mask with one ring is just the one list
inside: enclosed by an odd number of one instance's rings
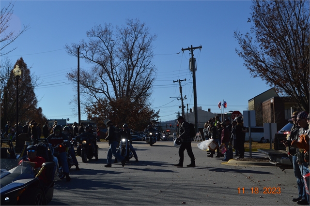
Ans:
{"label": "dark low open three-wheeled vehicle in the bottom left corner", "polygon": [[[26,146],[21,154],[26,153]],[[50,148],[47,151],[52,159],[51,162],[43,163],[38,172],[24,161],[9,171],[1,168],[0,205],[47,205],[51,202],[54,181],[58,177],[58,160],[52,155],[52,147],[48,143],[46,147]]]}

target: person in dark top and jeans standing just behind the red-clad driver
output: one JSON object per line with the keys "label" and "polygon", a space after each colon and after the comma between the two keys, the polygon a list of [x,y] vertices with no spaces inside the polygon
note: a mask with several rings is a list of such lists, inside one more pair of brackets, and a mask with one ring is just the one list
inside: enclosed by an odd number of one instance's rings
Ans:
{"label": "person in dark top and jeans standing just behind the red-clad driver", "polygon": [[[62,144],[63,140],[69,140],[69,138],[67,137],[67,135],[62,133],[62,126],[57,124],[54,127],[53,133],[47,137],[47,140],[48,140],[48,143],[50,143],[53,147],[55,147],[58,144]],[[58,151],[59,151],[58,158],[62,164],[63,175],[66,177],[67,181],[70,181],[71,177],[69,177],[69,167],[68,167],[68,162],[67,162],[66,148],[61,147],[59,148]],[[60,178],[64,178],[64,176]]]}

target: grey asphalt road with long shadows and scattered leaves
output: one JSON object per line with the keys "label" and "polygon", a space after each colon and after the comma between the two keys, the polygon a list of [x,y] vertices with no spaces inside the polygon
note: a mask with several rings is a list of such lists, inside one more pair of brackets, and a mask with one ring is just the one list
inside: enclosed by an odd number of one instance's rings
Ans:
{"label": "grey asphalt road with long shadows and scattered leaves", "polygon": [[[207,157],[197,142],[192,143],[196,167],[186,167],[190,163],[186,152],[184,167],[175,167],[178,148],[171,141],[153,147],[134,142],[139,162],[133,158],[124,167],[116,163],[106,168],[109,145],[98,146],[99,161],[83,163],[78,157],[81,170],[70,169],[70,182],[55,183],[49,205],[296,205],[293,169],[282,171],[270,163],[223,163],[223,158]],[[263,154],[252,152],[252,157]]]}

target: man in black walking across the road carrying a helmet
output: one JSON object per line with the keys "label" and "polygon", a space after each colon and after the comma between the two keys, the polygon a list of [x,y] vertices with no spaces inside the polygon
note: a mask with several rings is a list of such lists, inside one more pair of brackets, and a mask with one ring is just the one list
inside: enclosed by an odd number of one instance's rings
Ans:
{"label": "man in black walking across the road carrying a helmet", "polygon": [[187,167],[195,167],[195,156],[192,151],[192,138],[189,135],[189,124],[184,120],[182,116],[178,117],[178,123],[179,123],[179,128],[180,128],[180,135],[178,139],[182,140],[182,144],[179,147],[179,163],[174,164],[176,167],[183,167],[183,162],[184,162],[184,150],[186,149],[188,156],[190,157],[190,164],[186,165]]}

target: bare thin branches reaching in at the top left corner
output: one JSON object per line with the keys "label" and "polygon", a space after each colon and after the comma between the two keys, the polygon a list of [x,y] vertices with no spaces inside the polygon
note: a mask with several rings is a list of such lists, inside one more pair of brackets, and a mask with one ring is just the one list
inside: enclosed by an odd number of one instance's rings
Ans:
{"label": "bare thin branches reaching in at the top left corner", "polygon": [[10,27],[10,21],[13,15],[13,3],[9,3],[7,7],[3,7],[0,11],[0,57],[4,56],[12,51],[14,51],[17,47],[4,51],[4,48],[14,42],[22,33],[29,29],[29,25],[23,25],[23,29],[15,32],[15,31],[7,31]]}

